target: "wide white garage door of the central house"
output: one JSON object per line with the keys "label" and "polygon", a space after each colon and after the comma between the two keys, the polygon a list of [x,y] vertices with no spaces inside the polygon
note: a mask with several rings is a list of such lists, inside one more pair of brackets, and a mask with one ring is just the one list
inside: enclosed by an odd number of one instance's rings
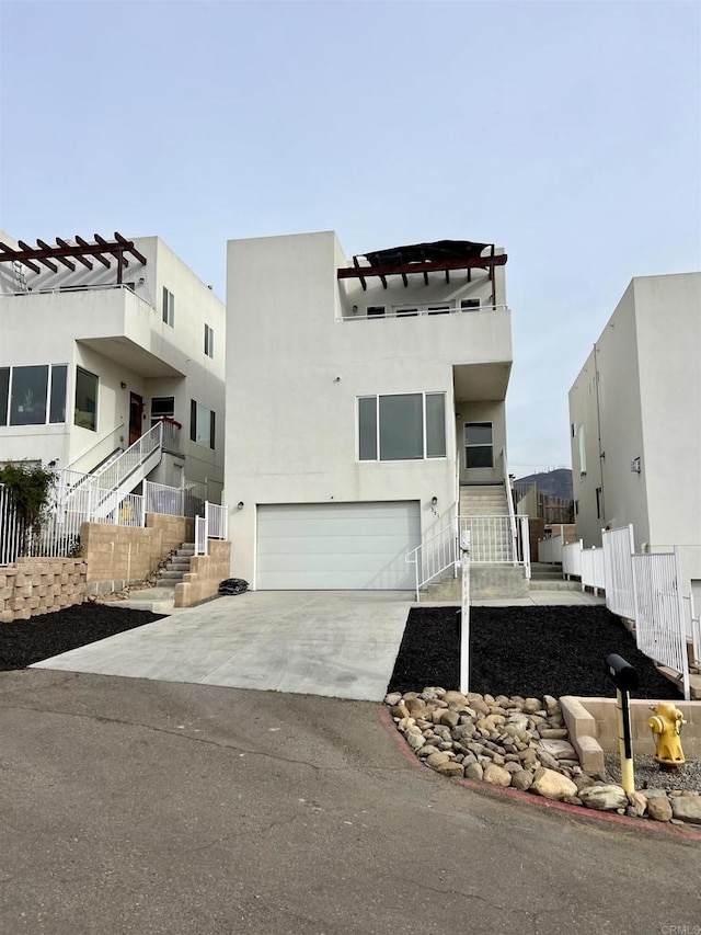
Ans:
{"label": "wide white garage door of the central house", "polygon": [[257,588],[414,588],[404,556],[421,543],[417,501],[273,504],[257,510]]}

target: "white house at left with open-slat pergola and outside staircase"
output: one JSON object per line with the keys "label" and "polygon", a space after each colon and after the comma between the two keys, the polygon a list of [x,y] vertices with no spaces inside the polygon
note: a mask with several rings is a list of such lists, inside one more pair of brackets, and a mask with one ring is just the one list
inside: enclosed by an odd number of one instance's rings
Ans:
{"label": "white house at left with open-slat pergola and outside staircase", "polygon": [[168,444],[123,492],[148,476],[206,483],[218,501],[225,318],[158,237],[30,247],[0,233],[0,461],[93,471],[165,418]]}

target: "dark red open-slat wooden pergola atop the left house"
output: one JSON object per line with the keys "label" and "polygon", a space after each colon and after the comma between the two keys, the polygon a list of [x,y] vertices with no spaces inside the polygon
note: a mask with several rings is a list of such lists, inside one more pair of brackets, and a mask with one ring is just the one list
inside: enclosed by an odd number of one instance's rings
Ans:
{"label": "dark red open-slat wooden pergola atop the left house", "polygon": [[30,247],[23,240],[18,240],[20,249],[16,250],[0,241],[0,263],[22,263],[34,273],[42,273],[42,266],[58,273],[60,263],[71,272],[76,272],[76,263],[80,263],[88,270],[93,269],[93,260],[102,263],[103,266],[110,269],[112,266],[112,258],[117,261],[117,285],[122,284],[123,270],[129,265],[129,261],[125,254],[130,254],[133,260],[136,260],[141,265],[146,266],[146,256],[140,253],[134,246],[133,240],[127,240],[118,231],[114,232],[114,240],[105,240],[99,233],[94,235],[94,242],[89,243],[82,237],[77,236],[74,243],[69,243],[60,237],[56,238],[56,246],[53,247],[45,240],[37,238],[36,247]]}

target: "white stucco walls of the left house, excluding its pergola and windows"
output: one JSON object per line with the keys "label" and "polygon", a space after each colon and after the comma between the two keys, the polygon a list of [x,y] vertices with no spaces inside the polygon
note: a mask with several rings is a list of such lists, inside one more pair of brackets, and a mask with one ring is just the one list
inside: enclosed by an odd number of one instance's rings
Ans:
{"label": "white stucco walls of the left house, excluding its pergola and windows", "polygon": [[[0,240],[18,249],[12,238]],[[74,271],[42,266],[38,274],[0,264],[0,376],[9,373],[9,387],[0,386],[0,460],[91,470],[150,427],[158,400],[172,400],[168,414],[183,426],[184,459],[164,459],[151,479],[207,480],[214,499],[223,480],[223,304],[158,237],[134,243],[147,262],[130,258],[122,285],[114,258],[108,269],[93,260],[92,270],[73,263]],[[173,297],[171,322],[163,320],[164,290]],[[205,353],[205,326],[214,355]],[[36,424],[18,412],[13,375],[46,366],[65,373],[64,411]],[[81,372],[95,388],[89,413],[78,401]],[[192,400],[216,413],[214,447],[191,440]]]}

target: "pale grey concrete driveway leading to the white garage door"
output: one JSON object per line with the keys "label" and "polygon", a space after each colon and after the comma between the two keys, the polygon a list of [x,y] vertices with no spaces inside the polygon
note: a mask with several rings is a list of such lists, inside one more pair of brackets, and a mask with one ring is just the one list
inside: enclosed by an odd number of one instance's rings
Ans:
{"label": "pale grey concrete driveway leading to the white garage door", "polygon": [[[376,702],[384,697],[412,596],[248,592],[179,611],[34,668]],[[124,612],[115,607],[114,613]]]}

